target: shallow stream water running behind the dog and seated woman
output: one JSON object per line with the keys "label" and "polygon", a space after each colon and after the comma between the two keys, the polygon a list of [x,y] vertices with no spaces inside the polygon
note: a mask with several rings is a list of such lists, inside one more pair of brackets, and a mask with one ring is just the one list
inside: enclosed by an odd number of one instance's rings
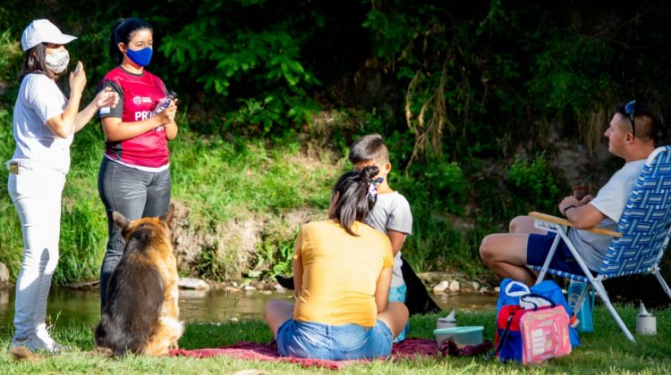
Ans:
{"label": "shallow stream water running behind the dog and seated woman", "polygon": [[[180,317],[183,321],[226,321],[231,318],[260,318],[263,305],[270,299],[290,298],[290,293],[263,294],[230,293],[225,290],[208,292],[180,290]],[[434,296],[444,310],[495,309],[497,296],[458,294]],[[13,330],[14,289],[0,289],[0,335]],[[98,290],[73,290],[53,287],[47,303],[47,324],[64,327],[69,324],[95,327],[100,319]]]}

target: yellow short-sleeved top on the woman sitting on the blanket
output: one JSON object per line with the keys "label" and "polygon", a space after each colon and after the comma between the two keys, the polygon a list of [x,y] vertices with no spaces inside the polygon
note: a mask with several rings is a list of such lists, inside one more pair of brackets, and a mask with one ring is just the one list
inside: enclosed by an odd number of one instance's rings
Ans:
{"label": "yellow short-sleeved top on the woman sitting on the blanket", "polygon": [[380,272],[394,265],[389,238],[355,221],[344,231],[336,221],[303,225],[293,257],[303,268],[301,296],[293,319],[373,327],[378,316],[375,288]]}

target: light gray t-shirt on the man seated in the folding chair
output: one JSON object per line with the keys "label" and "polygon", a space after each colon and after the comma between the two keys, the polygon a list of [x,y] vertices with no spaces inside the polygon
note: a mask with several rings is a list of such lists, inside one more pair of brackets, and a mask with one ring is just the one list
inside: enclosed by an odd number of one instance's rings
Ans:
{"label": "light gray t-shirt on the man seated in the folding chair", "polygon": [[[602,220],[596,228],[617,229],[617,222],[620,221],[629,196],[632,195],[633,187],[636,185],[643,165],[645,165],[645,159],[624,164],[589,203],[606,215],[606,219]],[[582,229],[569,230],[568,237],[571,238],[578,253],[582,255],[587,267],[592,271],[599,271],[613,237]]]}

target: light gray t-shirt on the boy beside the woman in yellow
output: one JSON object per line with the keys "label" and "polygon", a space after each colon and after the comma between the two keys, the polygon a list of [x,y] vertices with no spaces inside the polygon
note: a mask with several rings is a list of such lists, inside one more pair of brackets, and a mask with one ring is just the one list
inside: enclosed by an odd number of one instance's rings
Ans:
{"label": "light gray t-shirt on the boy beside the woman in yellow", "polygon": [[[385,234],[389,229],[392,229],[410,236],[412,234],[410,204],[404,196],[396,191],[378,194],[378,201],[375,203],[373,211],[366,218],[366,223]],[[403,261],[399,251],[394,257],[394,276],[392,277],[391,287],[400,287],[405,284],[401,272],[402,265]]]}

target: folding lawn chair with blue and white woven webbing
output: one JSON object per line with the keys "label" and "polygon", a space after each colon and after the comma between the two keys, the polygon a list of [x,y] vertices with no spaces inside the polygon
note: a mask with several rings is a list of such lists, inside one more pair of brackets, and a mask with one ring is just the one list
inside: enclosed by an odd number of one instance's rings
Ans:
{"label": "folding lawn chair with blue and white woven webbing", "polygon": [[[632,196],[629,197],[622,217],[617,224],[617,231],[588,229],[613,237],[606,258],[601,263],[599,274],[596,277],[592,276],[581,255],[578,254],[566,235],[566,227],[572,226],[570,221],[538,212],[531,212],[530,216],[535,218],[534,225],[536,228],[556,233],[555,241],[543,266],[531,266],[533,270],[540,271],[536,282],[539,283],[545,277],[546,272],[566,279],[589,282],[578,299],[575,311],[580,310],[590,287],[593,287],[606,304],[608,311],[613,315],[624,335],[634,341],[632,333],[624,325],[622,318],[611,304],[603,286],[603,280],[626,275],[653,273],[667,296],[671,298],[671,289],[659,273],[659,263],[667,250],[669,236],[671,235],[671,146],[658,147],[648,157],[641,175],[633,187]],[[566,246],[568,246],[587,277],[548,268],[550,259],[552,259],[560,240],[565,241]]]}

